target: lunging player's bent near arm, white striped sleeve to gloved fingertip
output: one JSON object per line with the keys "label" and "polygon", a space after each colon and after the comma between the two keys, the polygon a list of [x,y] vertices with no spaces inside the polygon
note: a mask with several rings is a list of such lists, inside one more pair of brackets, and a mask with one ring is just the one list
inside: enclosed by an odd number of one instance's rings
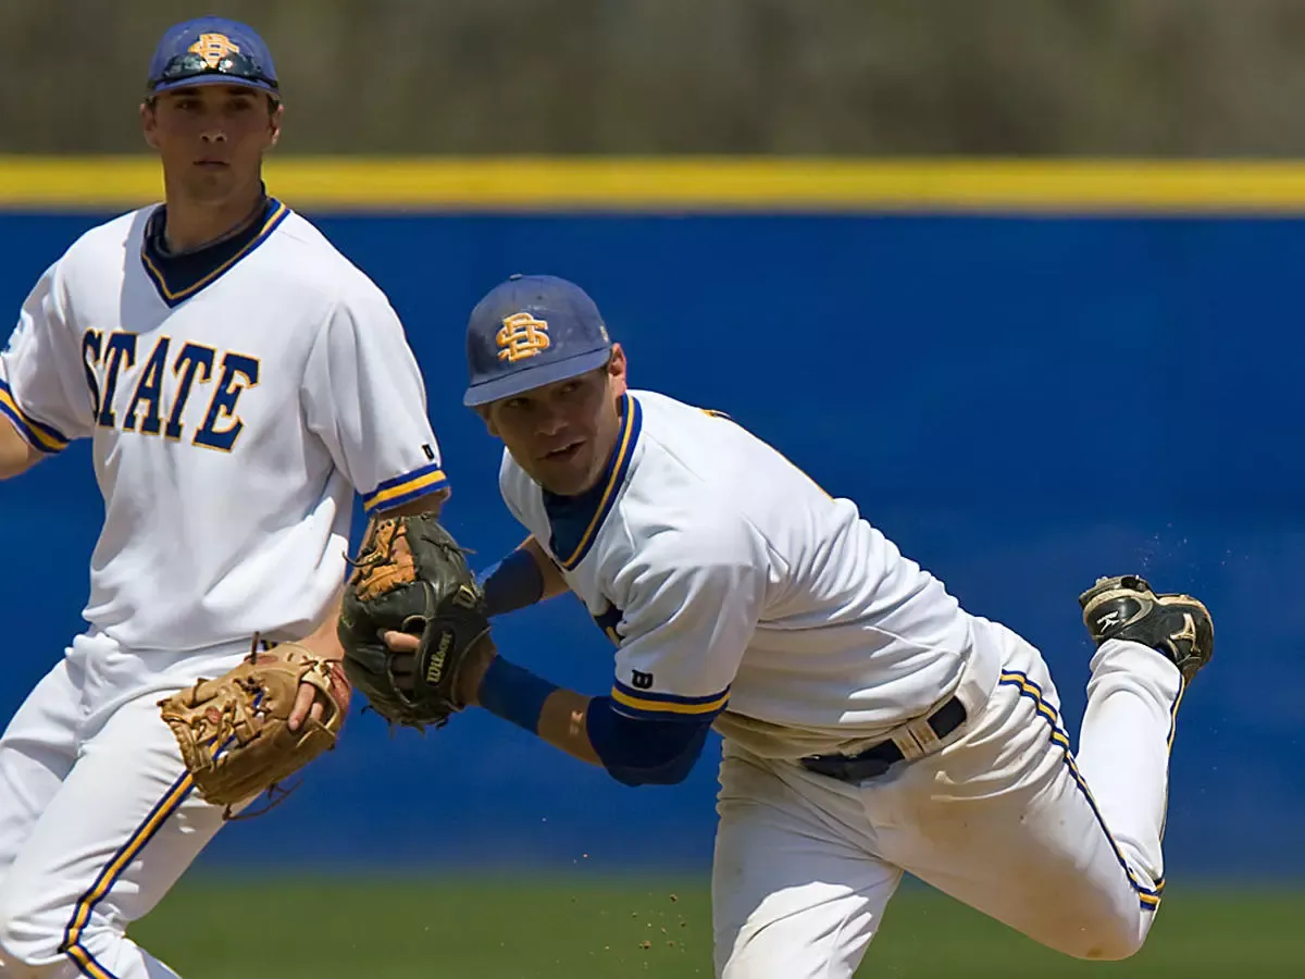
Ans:
{"label": "lunging player's bent near arm, white striped sleeve to gloved fingertip", "polygon": [[[672,785],[692,770],[752,640],[765,555],[727,521],[659,535],[620,576],[626,612],[609,696],[557,687],[497,654],[488,638],[463,663],[458,696],[603,766],[625,785]],[[386,637],[394,650],[416,640]]]}

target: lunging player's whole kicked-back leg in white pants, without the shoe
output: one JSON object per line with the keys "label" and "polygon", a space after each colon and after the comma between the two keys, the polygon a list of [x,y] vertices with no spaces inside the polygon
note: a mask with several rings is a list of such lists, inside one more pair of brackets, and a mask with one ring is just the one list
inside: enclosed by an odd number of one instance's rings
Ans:
{"label": "lunging player's whole kicked-back leg in white pants, without the shoe", "polygon": [[1051,948],[1128,957],[1146,940],[1163,889],[1180,672],[1156,649],[1101,646],[1084,739],[1094,775],[1120,771],[1095,785],[1070,753],[1041,657],[1006,629],[981,632],[1005,646],[984,711],[959,741],[865,792],[881,852]]}

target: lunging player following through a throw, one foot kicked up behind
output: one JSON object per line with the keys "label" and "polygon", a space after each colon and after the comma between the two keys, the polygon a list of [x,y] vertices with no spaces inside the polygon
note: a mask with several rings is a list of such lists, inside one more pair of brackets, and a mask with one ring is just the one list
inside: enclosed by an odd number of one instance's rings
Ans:
{"label": "lunging player following through a throw, one foot kicked up behind", "polygon": [[573,591],[616,675],[585,697],[482,642],[458,697],[626,785],[680,782],[715,726],[719,975],[847,979],[903,871],[1069,956],[1138,950],[1174,714],[1214,642],[1201,602],[1133,576],[1081,597],[1098,651],[1075,754],[1036,649],[735,422],[628,389],[577,286],[500,285],[467,359],[530,531],[484,576],[488,611]]}

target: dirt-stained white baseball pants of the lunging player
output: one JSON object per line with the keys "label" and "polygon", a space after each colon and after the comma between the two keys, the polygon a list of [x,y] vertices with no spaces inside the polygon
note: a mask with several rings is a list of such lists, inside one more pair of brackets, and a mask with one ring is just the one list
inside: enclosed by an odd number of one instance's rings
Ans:
{"label": "dirt-stained white baseball pants of the lunging player", "polygon": [[979,621],[976,655],[1000,657],[997,683],[932,756],[857,786],[726,743],[718,976],[851,979],[903,872],[1077,958],[1142,946],[1163,889],[1178,670],[1103,644],[1075,757],[1041,655]]}

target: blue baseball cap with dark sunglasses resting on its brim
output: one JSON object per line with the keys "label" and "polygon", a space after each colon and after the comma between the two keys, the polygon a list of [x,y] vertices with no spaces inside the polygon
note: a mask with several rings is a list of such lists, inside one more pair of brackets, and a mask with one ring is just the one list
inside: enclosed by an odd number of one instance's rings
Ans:
{"label": "blue baseball cap with dark sunglasses resting on its brim", "polygon": [[150,59],[151,95],[192,85],[248,85],[281,97],[271,52],[253,27],[200,17],[167,29]]}

